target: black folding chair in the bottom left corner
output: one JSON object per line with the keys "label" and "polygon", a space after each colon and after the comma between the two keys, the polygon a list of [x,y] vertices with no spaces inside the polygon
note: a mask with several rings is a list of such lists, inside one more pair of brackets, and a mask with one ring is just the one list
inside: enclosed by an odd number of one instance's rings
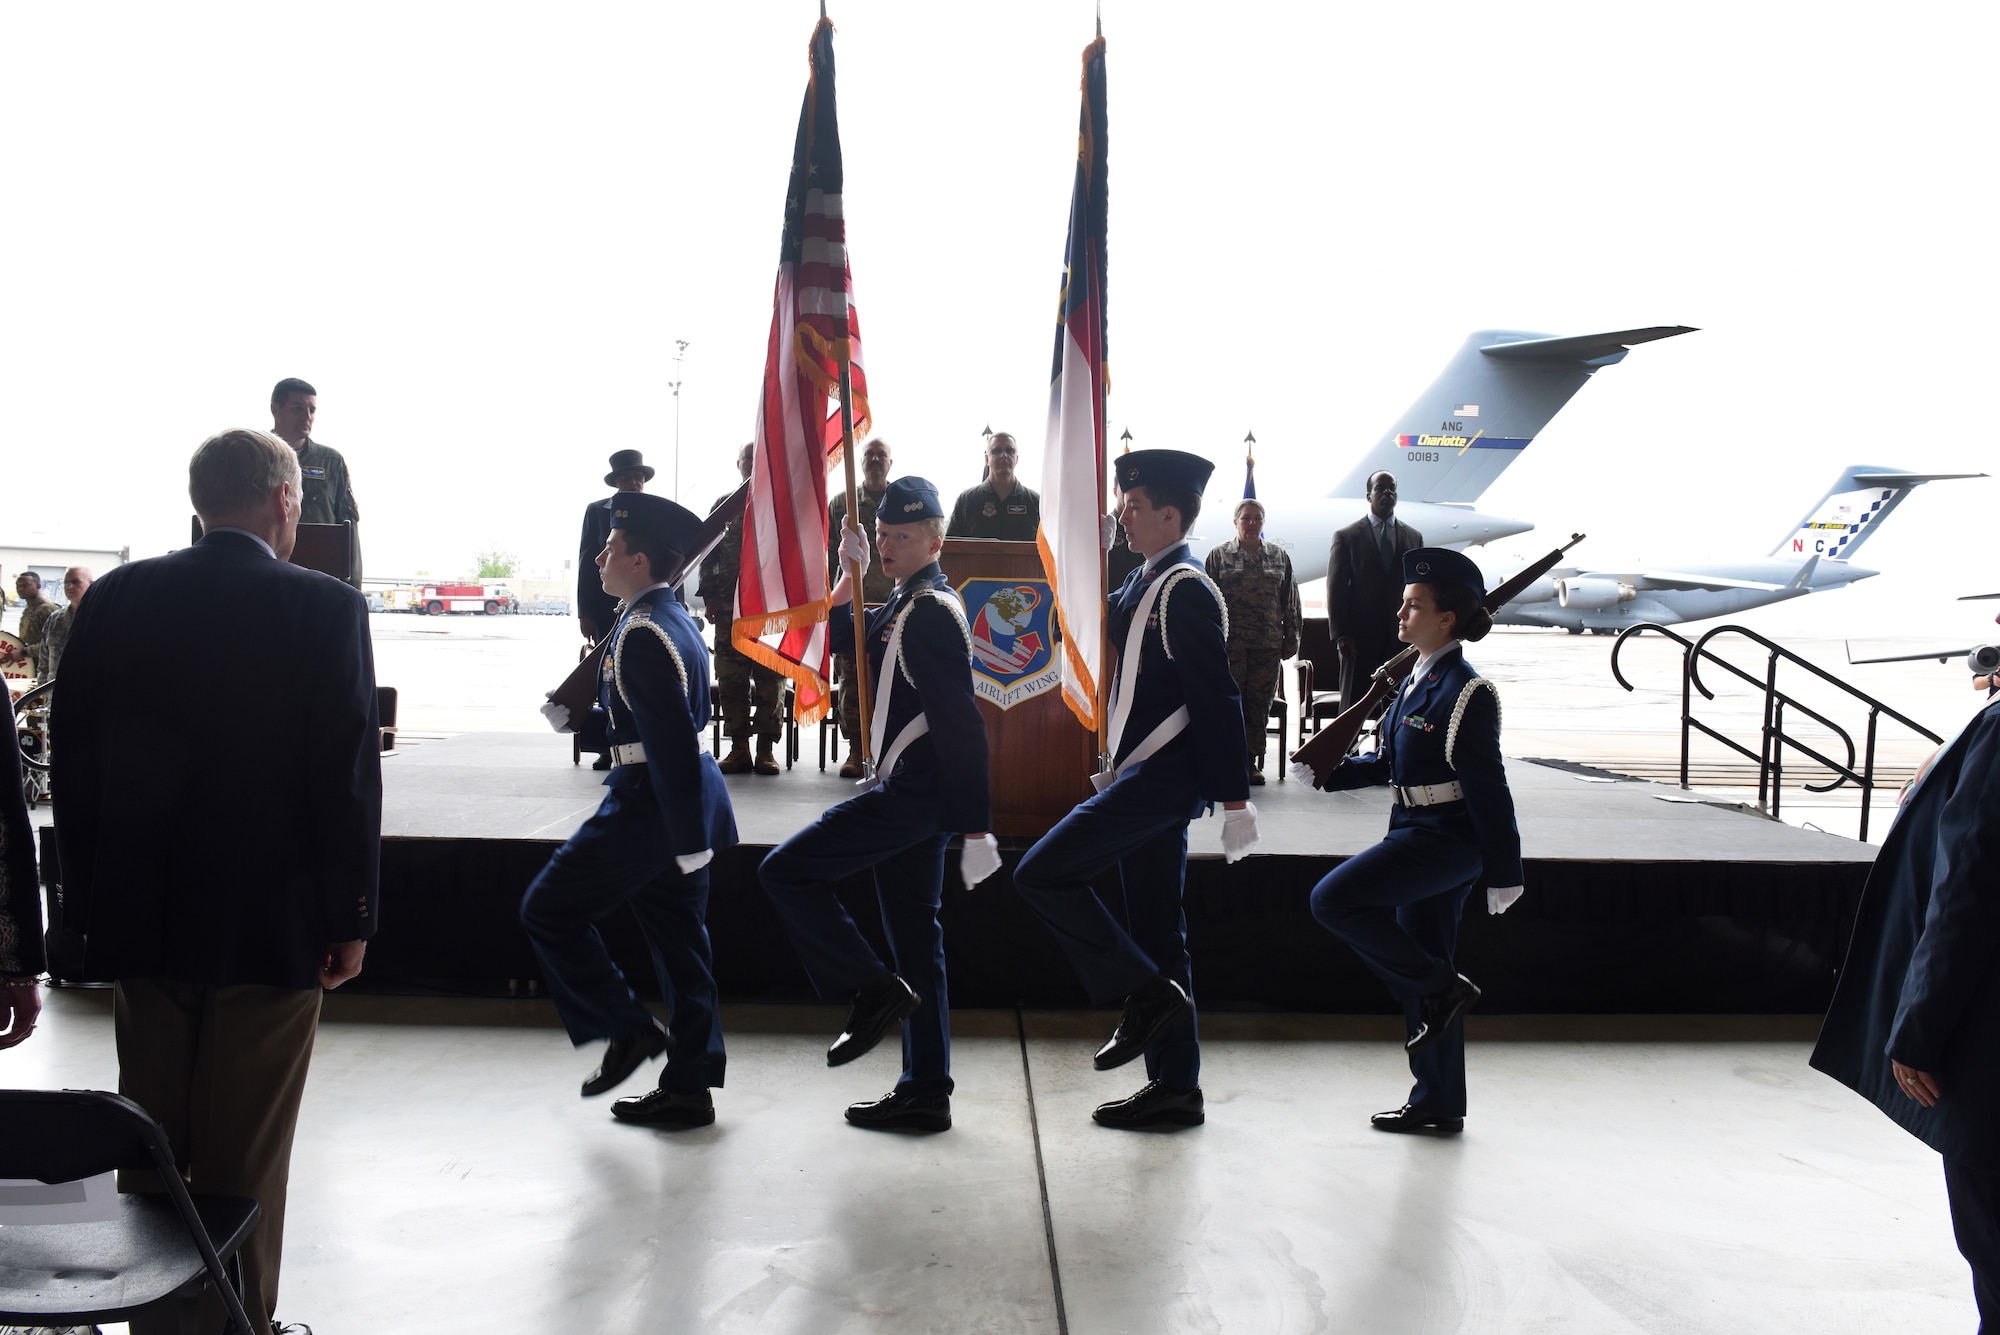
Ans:
{"label": "black folding chair in the bottom left corner", "polygon": [[120,1195],[106,1221],[10,1223],[0,1323],[130,1321],[214,1283],[228,1329],[250,1335],[238,1251],[256,1227],[256,1201],[190,1197],[166,1131],[124,1095],[0,1089],[0,1177],[82,1183],[112,1169],[152,1169],[166,1195]]}

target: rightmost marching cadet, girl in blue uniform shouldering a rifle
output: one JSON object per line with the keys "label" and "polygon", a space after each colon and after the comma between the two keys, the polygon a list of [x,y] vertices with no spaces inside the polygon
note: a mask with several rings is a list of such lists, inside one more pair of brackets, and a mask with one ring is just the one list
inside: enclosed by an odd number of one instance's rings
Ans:
{"label": "rightmost marching cadet, girl in blue uniform shouldering a rifle", "polygon": [[[1416,646],[1410,679],[1382,721],[1382,745],[1350,755],[1324,787],[1388,783],[1388,835],[1312,887],[1312,915],[1402,1001],[1416,1087],[1376,1131],[1464,1131],[1466,1027],[1480,989],[1452,963],[1458,913],[1474,887],[1502,913],[1520,897],[1520,831],[1500,761],[1500,693],[1472,669],[1464,642],[1484,640],[1480,568],[1450,548],[1402,556],[1398,640]],[[1312,775],[1306,775],[1312,781]]]}

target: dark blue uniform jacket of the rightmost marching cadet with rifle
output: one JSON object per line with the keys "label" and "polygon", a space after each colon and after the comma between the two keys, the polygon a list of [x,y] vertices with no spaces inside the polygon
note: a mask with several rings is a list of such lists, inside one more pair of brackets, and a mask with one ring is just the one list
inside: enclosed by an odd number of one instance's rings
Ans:
{"label": "dark blue uniform jacket of the rightmost marching cadet with rifle", "polygon": [[[1482,885],[1520,885],[1520,829],[1514,827],[1514,793],[1508,791],[1506,765],[1500,761],[1500,699],[1486,687],[1466,695],[1466,685],[1478,675],[1462,650],[1442,650],[1424,668],[1422,681],[1396,693],[1396,703],[1382,717],[1382,747],[1338,765],[1326,777],[1326,789],[1372,783],[1416,787],[1456,779],[1464,785],[1464,801],[1430,807],[1398,803],[1390,813],[1390,829],[1418,825],[1466,839],[1480,849]],[[1458,711],[1462,697],[1464,711]]]}

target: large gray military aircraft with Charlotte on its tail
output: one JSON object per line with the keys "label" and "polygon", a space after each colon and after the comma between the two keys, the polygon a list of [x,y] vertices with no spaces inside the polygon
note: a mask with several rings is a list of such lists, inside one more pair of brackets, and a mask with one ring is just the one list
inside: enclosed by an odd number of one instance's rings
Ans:
{"label": "large gray military aircraft with Charlotte on its tail", "polygon": [[[1462,550],[1526,534],[1534,524],[1480,514],[1472,504],[1600,368],[1616,366],[1636,344],[1692,332],[1684,324],[1662,324],[1574,338],[1518,330],[1470,334],[1340,486],[1322,498],[1288,496],[1282,506],[1270,506],[1264,538],[1292,556],[1294,580],[1322,578],[1334,530],[1368,514],[1368,478],[1380,470],[1396,476],[1396,518],[1432,546]],[[1226,536],[1240,496],[1236,474],[1218,468],[1202,498],[1202,528]]]}

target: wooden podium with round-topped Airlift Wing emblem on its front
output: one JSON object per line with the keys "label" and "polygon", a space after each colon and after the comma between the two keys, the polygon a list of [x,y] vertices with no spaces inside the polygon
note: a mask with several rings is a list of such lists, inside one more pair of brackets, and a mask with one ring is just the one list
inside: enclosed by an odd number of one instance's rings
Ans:
{"label": "wooden podium with round-topped Airlift Wing emblem on its front", "polygon": [[[1040,837],[1090,795],[1090,771],[1098,761],[1098,737],[1084,731],[1062,703],[1062,685],[1048,683],[1036,691],[1048,666],[1060,668],[1062,662],[1062,646],[1052,644],[1052,598],[1040,550],[1032,542],[946,538],[940,566],[946,582],[964,598],[966,622],[974,626],[974,685],[992,749],[994,833]],[[988,610],[988,598],[996,592],[1002,594],[1004,608],[1016,612],[1016,626],[1026,630],[1018,638],[982,642],[980,612]],[[1020,610],[1030,598],[1034,604]],[[988,630],[1006,628],[996,622],[998,612],[1000,608],[988,612]],[[1034,654],[1026,650],[1030,636],[1036,642]],[[1030,662],[1024,669],[1010,671],[1018,658]],[[1026,697],[1014,697],[1022,693]],[[1010,697],[1010,703],[1002,703]]]}

